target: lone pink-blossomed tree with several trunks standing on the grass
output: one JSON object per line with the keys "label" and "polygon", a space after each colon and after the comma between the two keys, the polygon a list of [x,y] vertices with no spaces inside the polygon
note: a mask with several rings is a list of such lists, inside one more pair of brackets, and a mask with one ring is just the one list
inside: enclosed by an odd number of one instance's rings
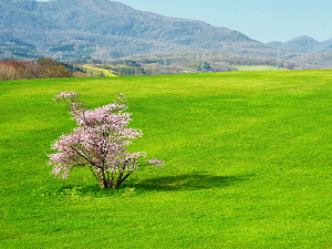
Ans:
{"label": "lone pink-blossomed tree with several trunks standing on the grass", "polygon": [[118,94],[113,104],[87,110],[74,92],[61,92],[54,101],[69,105],[77,126],[52,144],[58,153],[48,155],[55,177],[68,178],[73,167],[87,167],[102,188],[117,188],[139,166],[164,166],[157,159],[146,160],[145,153],[129,153],[132,139],[141,137],[139,129],[127,127],[131,114],[124,112],[125,97]]}

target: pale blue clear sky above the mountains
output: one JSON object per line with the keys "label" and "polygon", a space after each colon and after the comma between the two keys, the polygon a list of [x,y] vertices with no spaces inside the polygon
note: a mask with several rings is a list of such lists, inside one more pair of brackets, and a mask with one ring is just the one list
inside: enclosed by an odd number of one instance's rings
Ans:
{"label": "pale blue clear sky above the mountains", "polygon": [[194,19],[260,42],[332,38],[332,0],[117,0],[137,10]]}

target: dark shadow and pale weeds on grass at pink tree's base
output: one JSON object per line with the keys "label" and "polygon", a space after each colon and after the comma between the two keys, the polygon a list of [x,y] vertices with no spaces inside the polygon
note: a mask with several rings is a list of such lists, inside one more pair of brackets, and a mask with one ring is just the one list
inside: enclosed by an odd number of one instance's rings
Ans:
{"label": "dark shadow and pale weeds on grass at pink tree's base", "polygon": [[118,189],[101,188],[93,185],[62,185],[56,187],[43,187],[35,193],[43,197],[107,197],[107,196],[129,196],[149,191],[179,191],[200,190],[210,188],[228,187],[238,181],[249,180],[255,175],[243,176],[216,176],[207,173],[191,173],[177,176],[163,176],[144,179],[141,183],[133,180],[125,181]]}

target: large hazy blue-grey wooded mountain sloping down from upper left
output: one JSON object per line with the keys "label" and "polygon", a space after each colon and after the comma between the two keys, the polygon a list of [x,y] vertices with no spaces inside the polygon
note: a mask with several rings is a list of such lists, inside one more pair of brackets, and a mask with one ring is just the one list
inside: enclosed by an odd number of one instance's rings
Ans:
{"label": "large hazy blue-grey wooded mountain sloping down from upper left", "polygon": [[[273,45],[227,28],[138,11],[108,0],[1,0],[0,28],[0,43],[20,46],[22,54],[107,58],[205,49],[276,54]],[[298,54],[287,48],[281,53]]]}

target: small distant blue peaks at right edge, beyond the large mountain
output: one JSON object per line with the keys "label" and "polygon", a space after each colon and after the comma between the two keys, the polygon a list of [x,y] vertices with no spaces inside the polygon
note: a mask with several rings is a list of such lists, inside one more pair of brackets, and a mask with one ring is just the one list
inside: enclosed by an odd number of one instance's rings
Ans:
{"label": "small distant blue peaks at right edge, beyond the large mountain", "polygon": [[332,50],[332,39],[325,42],[318,42],[313,38],[302,35],[294,38],[287,42],[273,41],[269,42],[270,45],[283,46],[292,50],[304,51],[304,52],[324,52]]}

